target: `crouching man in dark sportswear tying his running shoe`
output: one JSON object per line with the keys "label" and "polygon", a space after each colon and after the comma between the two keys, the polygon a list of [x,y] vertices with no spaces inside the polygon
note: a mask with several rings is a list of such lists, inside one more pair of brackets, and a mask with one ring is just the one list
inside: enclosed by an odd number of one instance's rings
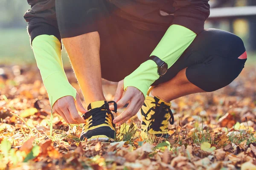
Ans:
{"label": "crouching man in dark sportswear tying his running shoe", "polygon": [[[204,30],[208,1],[28,0],[25,19],[53,111],[67,123],[84,123],[81,140],[113,139],[115,124],[139,110],[142,130],[166,136],[174,123],[170,101],[223,88],[244,68],[239,37]],[[64,73],[61,39],[88,112]],[[119,82],[114,101],[106,101],[102,78]],[[114,119],[111,110],[126,103]]]}

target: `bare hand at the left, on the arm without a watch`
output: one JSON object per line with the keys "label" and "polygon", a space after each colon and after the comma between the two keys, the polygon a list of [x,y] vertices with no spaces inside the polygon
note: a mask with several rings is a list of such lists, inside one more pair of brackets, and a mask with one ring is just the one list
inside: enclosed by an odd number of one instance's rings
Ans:
{"label": "bare hand at the left, on the arm without a watch", "polygon": [[87,112],[81,103],[78,93],[76,93],[76,101],[74,101],[73,96],[64,96],[58,99],[54,103],[52,110],[60,115],[67,123],[80,124],[85,122],[78,114],[78,111],[81,113]]}

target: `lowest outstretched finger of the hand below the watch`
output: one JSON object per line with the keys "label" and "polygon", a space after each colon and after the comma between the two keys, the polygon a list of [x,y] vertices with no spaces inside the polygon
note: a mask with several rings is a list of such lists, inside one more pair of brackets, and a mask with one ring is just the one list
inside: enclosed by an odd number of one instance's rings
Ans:
{"label": "lowest outstretched finger of the hand below the watch", "polygon": [[113,120],[113,123],[116,124],[116,123],[124,121],[126,119],[127,120],[130,119],[133,116],[134,107],[136,105],[137,105],[137,100],[131,101],[131,103],[128,105],[126,110]]}

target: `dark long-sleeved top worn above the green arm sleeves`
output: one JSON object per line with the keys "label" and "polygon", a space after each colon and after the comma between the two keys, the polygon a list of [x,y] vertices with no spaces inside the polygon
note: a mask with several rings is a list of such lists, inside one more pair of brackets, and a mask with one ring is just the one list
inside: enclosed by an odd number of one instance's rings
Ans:
{"label": "dark long-sleeved top worn above the green arm sleeves", "polygon": [[[29,22],[31,41],[38,35],[61,36],[55,14],[55,0],[27,0],[29,9],[24,18]],[[108,0],[120,10],[115,13],[127,20],[136,21],[143,30],[160,30],[166,25],[177,24],[196,34],[204,30],[209,16],[209,0]]]}

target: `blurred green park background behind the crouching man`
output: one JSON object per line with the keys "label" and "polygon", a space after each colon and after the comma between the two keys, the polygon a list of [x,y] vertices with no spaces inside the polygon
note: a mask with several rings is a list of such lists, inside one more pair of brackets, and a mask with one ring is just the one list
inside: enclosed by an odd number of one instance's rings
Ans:
{"label": "blurred green park background behind the crouching man", "polygon": [[[256,51],[256,0],[210,0],[206,28],[220,28],[244,40],[249,56]],[[35,64],[23,14],[26,0],[0,0],[0,64]],[[252,57],[250,57],[252,58]],[[69,66],[63,51],[64,65]]]}

